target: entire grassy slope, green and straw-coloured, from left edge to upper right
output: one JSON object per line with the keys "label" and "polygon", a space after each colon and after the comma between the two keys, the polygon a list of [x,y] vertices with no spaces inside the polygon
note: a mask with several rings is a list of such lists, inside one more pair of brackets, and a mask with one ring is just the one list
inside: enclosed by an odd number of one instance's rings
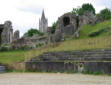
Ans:
{"label": "entire grassy slope, green and straw-coloured, from left edge to upper right", "polygon": [[105,21],[94,26],[85,25],[80,29],[79,39],[68,39],[65,42],[58,44],[47,45],[39,49],[33,49],[29,52],[25,51],[13,51],[13,52],[0,52],[0,62],[10,63],[10,62],[20,62],[24,60],[29,60],[43,52],[52,51],[72,51],[72,50],[89,50],[89,49],[103,49],[111,48],[111,30],[100,34],[97,37],[90,38],[88,35],[92,32],[99,31],[101,29],[106,29],[111,27],[111,20]]}

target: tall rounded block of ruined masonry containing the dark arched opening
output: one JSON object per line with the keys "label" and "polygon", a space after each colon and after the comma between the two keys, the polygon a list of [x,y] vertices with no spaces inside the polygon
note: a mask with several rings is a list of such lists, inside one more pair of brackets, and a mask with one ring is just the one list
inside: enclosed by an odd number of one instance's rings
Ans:
{"label": "tall rounded block of ruined masonry containing the dark arched opening", "polygon": [[58,24],[55,31],[55,41],[61,41],[65,37],[74,35],[77,31],[76,15],[72,13],[66,13],[58,18]]}

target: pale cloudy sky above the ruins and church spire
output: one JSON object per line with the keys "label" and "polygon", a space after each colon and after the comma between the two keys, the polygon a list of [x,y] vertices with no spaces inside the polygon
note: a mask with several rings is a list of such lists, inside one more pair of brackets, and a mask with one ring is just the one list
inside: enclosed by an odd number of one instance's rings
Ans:
{"label": "pale cloudy sky above the ruins and church spire", "polygon": [[83,3],[91,3],[97,13],[111,8],[111,0],[0,0],[0,24],[10,20],[14,31],[19,30],[22,36],[30,28],[39,28],[43,9],[51,26],[58,17]]}

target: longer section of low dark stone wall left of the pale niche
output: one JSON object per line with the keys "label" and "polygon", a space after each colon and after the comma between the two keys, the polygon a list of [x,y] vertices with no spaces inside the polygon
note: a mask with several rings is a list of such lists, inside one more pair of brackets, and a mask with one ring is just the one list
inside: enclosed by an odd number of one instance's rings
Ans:
{"label": "longer section of low dark stone wall left of the pale niche", "polygon": [[27,62],[26,68],[30,71],[42,72],[68,72],[77,70],[76,65],[65,62]]}

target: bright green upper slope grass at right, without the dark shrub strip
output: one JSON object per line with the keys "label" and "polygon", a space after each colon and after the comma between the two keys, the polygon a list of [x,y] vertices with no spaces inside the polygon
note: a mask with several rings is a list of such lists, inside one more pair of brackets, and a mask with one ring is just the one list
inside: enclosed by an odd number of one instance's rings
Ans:
{"label": "bright green upper slope grass at right, without the dark shrub strip", "polygon": [[[88,35],[91,34],[92,32],[97,32],[101,29],[107,29],[107,28],[111,28],[111,20],[109,21],[104,21],[102,23],[96,24],[94,26],[91,25],[84,25],[81,29],[80,29],[80,39],[82,38],[88,38]],[[111,35],[111,29],[108,29],[107,32],[104,32],[102,34],[100,34],[99,36],[109,36]],[[99,37],[97,36],[97,37]]]}

